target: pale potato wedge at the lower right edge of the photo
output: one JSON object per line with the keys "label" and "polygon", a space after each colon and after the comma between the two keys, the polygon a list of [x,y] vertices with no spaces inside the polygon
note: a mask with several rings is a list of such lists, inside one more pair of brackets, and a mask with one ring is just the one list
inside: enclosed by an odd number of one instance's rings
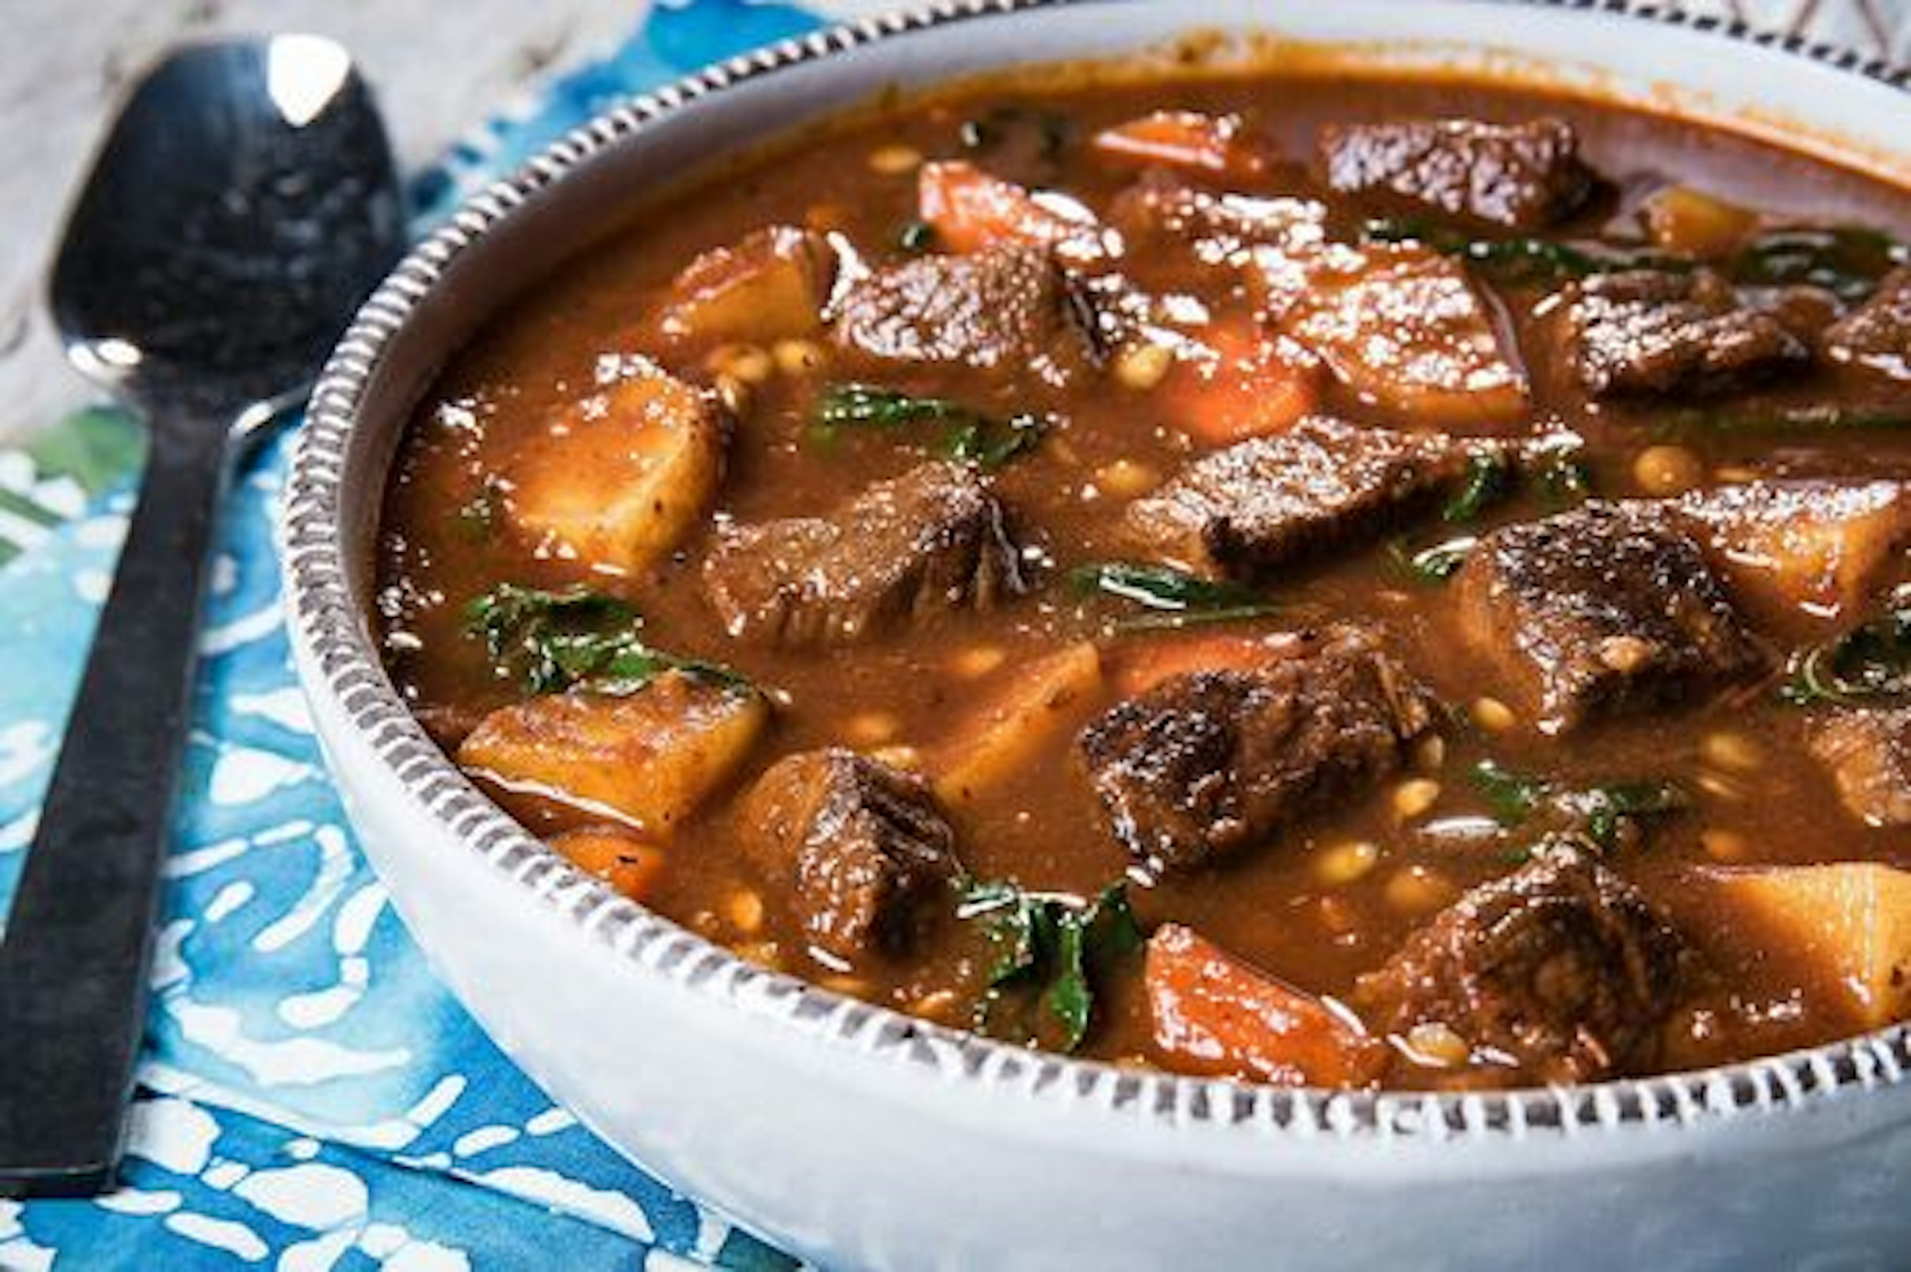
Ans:
{"label": "pale potato wedge at the lower right edge of the photo", "polygon": [[1911,1018],[1911,873],[1844,861],[1708,877],[1764,932],[1836,980],[1867,1024]]}

